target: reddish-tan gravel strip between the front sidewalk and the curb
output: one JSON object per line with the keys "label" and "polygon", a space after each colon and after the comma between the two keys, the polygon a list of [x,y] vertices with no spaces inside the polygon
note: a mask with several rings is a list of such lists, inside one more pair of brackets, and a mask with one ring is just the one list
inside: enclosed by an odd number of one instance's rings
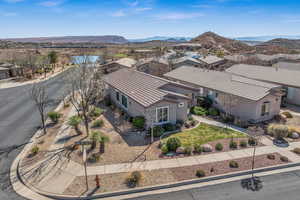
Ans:
{"label": "reddish-tan gravel strip between the front sidewalk and the curb", "polygon": [[[262,168],[287,163],[280,160],[280,154],[273,153],[273,155],[275,156],[274,160],[268,159],[267,154],[256,156],[255,168]],[[196,170],[198,169],[203,170],[206,174],[206,177],[251,169],[252,157],[235,159],[234,161],[238,162],[238,168],[230,168],[230,160],[227,160],[188,167],[141,171],[142,180],[138,187],[153,186],[173,183],[177,181],[196,179],[197,177],[195,174]],[[213,172],[211,171],[212,168],[214,169]],[[99,175],[101,187],[98,189],[96,188],[95,176],[88,176],[88,182],[90,189],[94,189],[94,193],[126,190],[128,189],[128,186],[126,185],[125,180],[129,175],[130,173],[114,173]],[[82,195],[84,194],[85,189],[85,177],[77,177],[65,190],[64,194]]]}

